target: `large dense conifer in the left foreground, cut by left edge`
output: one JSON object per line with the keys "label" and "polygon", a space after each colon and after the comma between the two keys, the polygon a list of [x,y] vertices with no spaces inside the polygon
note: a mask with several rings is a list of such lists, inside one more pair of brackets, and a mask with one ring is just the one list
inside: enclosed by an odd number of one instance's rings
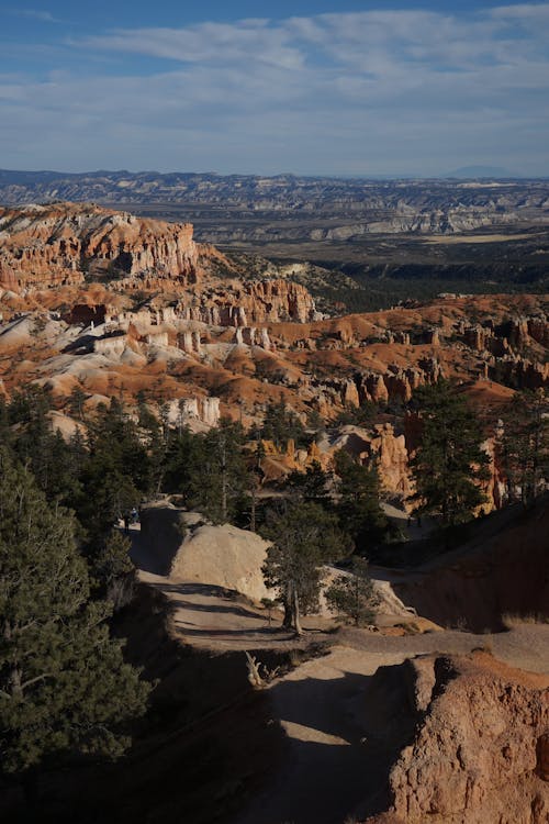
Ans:
{"label": "large dense conifer in the left foreground, cut by left edge", "polygon": [[60,753],[115,758],[149,691],[90,601],[72,519],[0,452],[0,751],[22,773]]}

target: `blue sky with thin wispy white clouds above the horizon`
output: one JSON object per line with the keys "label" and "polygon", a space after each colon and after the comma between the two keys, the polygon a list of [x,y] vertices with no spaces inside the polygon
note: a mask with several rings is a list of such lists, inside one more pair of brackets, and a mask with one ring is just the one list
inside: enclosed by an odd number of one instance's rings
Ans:
{"label": "blue sky with thin wispy white clouds above the horizon", "polygon": [[549,2],[0,0],[0,167],[549,175]]}

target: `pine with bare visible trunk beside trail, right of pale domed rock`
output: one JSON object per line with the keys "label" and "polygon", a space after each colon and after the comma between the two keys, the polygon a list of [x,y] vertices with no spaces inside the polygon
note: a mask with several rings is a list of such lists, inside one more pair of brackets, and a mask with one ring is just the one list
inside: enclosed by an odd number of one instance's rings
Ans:
{"label": "pine with bare visible trunk beside trail, right of pale domed rock", "polygon": [[348,538],[335,515],[305,501],[270,511],[261,534],[272,542],[264,566],[266,583],[283,603],[284,626],[300,633],[300,613],[318,604],[322,565],[343,557]]}

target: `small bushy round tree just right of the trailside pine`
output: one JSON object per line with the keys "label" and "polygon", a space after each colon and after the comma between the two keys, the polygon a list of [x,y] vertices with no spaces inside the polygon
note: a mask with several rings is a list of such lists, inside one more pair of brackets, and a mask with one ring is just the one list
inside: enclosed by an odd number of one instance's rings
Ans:
{"label": "small bushy round tree just right of the trailside pine", "polygon": [[366,558],[355,556],[350,575],[337,576],[327,588],[326,601],[345,623],[355,626],[371,624],[378,603]]}

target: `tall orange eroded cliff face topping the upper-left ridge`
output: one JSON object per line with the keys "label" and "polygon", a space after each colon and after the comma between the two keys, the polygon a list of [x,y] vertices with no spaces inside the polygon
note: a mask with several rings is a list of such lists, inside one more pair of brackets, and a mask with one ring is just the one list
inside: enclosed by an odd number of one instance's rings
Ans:
{"label": "tall orange eroded cliff face topping the upper-left ridge", "polygon": [[192,225],[57,203],[0,209],[0,285],[10,289],[81,283],[90,267],[193,283],[199,249]]}

